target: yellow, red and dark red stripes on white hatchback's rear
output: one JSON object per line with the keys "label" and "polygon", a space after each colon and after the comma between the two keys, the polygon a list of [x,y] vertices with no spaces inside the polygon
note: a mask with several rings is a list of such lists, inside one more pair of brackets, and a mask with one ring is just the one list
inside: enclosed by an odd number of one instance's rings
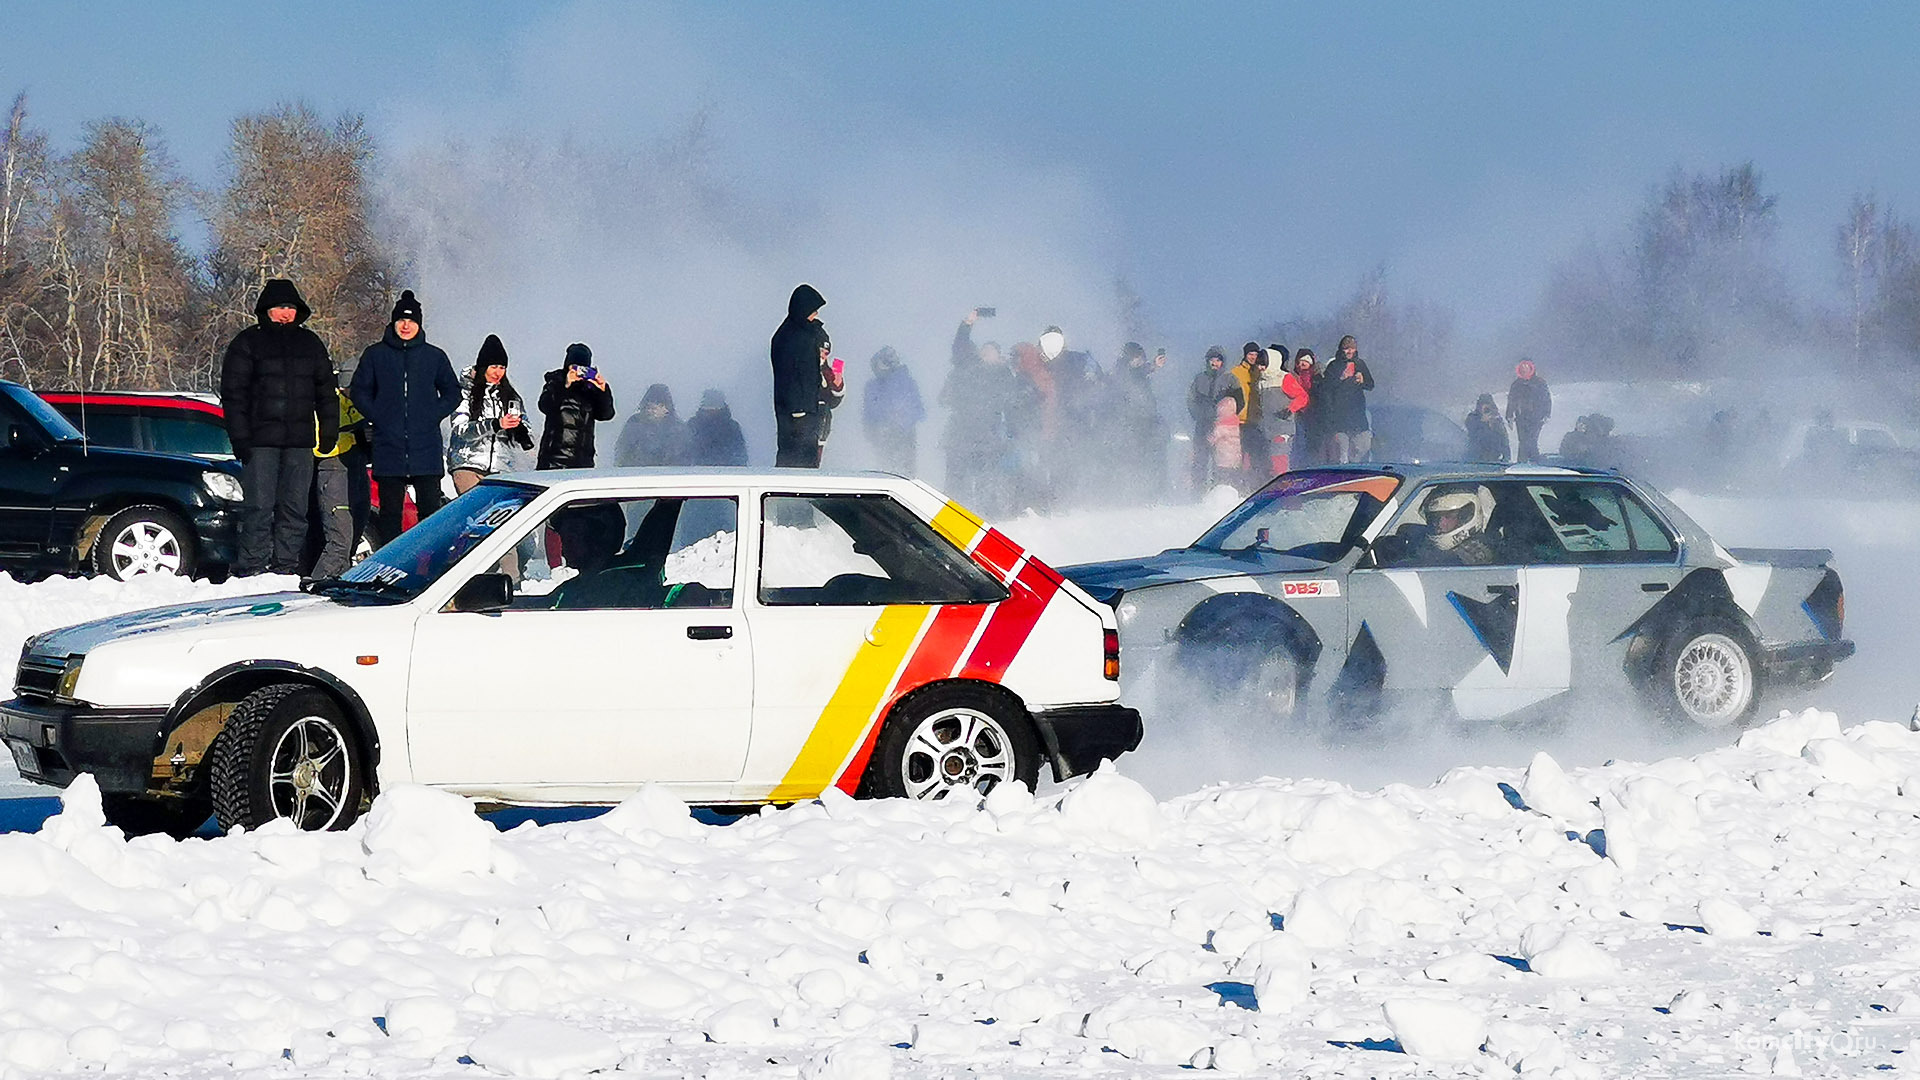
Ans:
{"label": "yellow, red and dark red stripes on white hatchback's rear", "polygon": [[808,799],[826,786],[854,794],[895,701],[945,678],[998,682],[1060,592],[1060,577],[960,503],[933,530],[1008,586],[1000,603],[889,605],[801,746],[772,801]]}

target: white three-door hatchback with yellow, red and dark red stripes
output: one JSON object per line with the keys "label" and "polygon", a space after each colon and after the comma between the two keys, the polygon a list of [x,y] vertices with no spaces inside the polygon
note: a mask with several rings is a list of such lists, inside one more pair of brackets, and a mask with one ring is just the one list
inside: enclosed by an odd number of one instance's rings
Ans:
{"label": "white three-door hatchback with yellow, red and dark red stripes", "polygon": [[[753,538],[741,544],[739,538]],[[933,488],[812,471],[495,477],[344,578],[31,638],[21,774],[129,828],[503,803],[937,799],[1139,746],[1112,611]]]}

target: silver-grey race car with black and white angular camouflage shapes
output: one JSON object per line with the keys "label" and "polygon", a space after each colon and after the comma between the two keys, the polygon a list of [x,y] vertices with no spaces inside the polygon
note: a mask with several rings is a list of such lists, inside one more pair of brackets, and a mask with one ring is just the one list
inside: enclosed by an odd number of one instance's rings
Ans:
{"label": "silver-grey race car with black and white angular camouflage shapes", "polygon": [[1722,548],[1615,473],[1342,465],[1275,479],[1188,548],[1062,573],[1114,605],[1133,671],[1279,717],[1528,721],[1630,694],[1726,726],[1853,655],[1830,561]]}

